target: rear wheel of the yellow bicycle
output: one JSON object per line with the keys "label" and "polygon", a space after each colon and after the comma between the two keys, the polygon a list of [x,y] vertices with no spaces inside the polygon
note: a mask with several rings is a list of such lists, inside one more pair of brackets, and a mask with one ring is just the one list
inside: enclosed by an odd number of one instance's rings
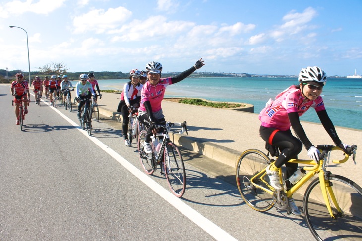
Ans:
{"label": "rear wheel of the yellow bicycle", "polygon": [[[236,169],[236,181],[242,199],[259,212],[268,211],[273,207],[272,195],[262,189],[269,189],[269,178],[265,171],[260,173],[269,163],[269,157],[263,152],[250,149],[241,154]],[[257,175],[258,173],[260,175]],[[251,182],[250,179],[253,177],[254,180]]]}

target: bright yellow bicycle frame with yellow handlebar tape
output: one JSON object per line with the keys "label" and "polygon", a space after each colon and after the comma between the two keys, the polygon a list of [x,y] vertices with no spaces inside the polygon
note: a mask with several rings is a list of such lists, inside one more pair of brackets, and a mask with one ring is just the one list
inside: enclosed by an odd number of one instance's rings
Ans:
{"label": "bright yellow bicycle frame with yellow handlebar tape", "polygon": [[[291,189],[289,189],[287,192],[285,192],[285,194],[287,195],[287,197],[291,197],[294,193],[297,192],[298,189],[300,189],[306,182],[308,182],[314,175],[318,174],[319,176],[319,181],[320,181],[320,187],[321,187],[321,191],[323,194],[323,199],[325,201],[325,204],[327,206],[328,212],[331,215],[331,217],[334,219],[336,218],[335,215],[333,214],[332,208],[331,208],[331,204],[330,204],[330,199],[331,201],[334,203],[334,205],[338,208],[338,211],[340,212],[341,209],[338,206],[338,202],[337,199],[333,193],[333,190],[331,188],[331,186],[329,185],[329,180],[326,180],[325,176],[330,174],[329,171],[326,170],[328,164],[329,164],[329,159],[330,159],[330,154],[332,151],[334,150],[340,150],[342,151],[341,148],[339,147],[333,147],[331,148],[328,152],[325,153],[324,155],[324,159],[321,159],[318,163],[315,163],[314,160],[299,160],[299,159],[291,159],[288,162],[290,163],[298,163],[298,164],[303,164],[303,165],[309,165],[308,166],[304,166],[303,169],[305,171],[309,171],[304,177],[302,177],[301,180],[299,180]],[[342,160],[332,160],[333,163],[336,164],[341,164],[344,163],[348,160],[349,155],[345,154],[345,158]],[[272,162],[270,162],[272,163]],[[258,174],[254,175],[251,179],[250,182],[252,182],[252,184],[259,188],[264,190],[265,192],[269,193],[270,195],[273,195],[274,193],[274,189],[270,186],[270,184],[264,179],[264,177],[266,176],[266,172],[265,172],[266,168],[264,168],[261,172],[259,172]],[[282,177],[282,171],[281,169],[279,170],[279,176]],[[254,180],[256,178],[260,177],[260,180],[269,188],[266,189],[260,185],[257,185],[256,182],[254,182]],[[329,199],[330,198],[330,199]]]}

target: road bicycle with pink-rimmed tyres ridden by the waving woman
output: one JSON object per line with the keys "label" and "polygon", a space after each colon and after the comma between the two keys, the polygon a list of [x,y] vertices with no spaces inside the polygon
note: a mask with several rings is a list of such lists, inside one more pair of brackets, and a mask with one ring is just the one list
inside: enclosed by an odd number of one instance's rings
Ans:
{"label": "road bicycle with pink-rimmed tyres ridden by the waving woman", "polygon": [[[182,160],[179,148],[170,140],[170,129],[172,126],[180,125],[182,127],[180,134],[184,131],[187,132],[187,123],[171,123],[163,122],[161,125],[156,126],[160,128],[161,132],[156,136],[152,136],[151,142],[152,154],[144,152],[144,143],[146,139],[147,130],[140,131],[138,135],[138,152],[144,171],[151,175],[157,170],[157,166],[160,166],[161,175],[166,176],[166,180],[169,184],[171,192],[181,197],[185,193],[186,189],[186,170]],[[162,143],[154,141],[162,138]],[[161,139],[160,139],[161,141]],[[155,143],[159,143],[155,146]]]}

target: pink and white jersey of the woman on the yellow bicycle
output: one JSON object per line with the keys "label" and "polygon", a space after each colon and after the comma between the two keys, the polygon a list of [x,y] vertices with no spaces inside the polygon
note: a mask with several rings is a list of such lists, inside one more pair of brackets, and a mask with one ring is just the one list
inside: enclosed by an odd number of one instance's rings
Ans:
{"label": "pink and white jersey of the woman on the yellow bicycle", "polygon": [[298,112],[298,116],[302,116],[309,108],[314,108],[316,112],[325,110],[322,97],[318,96],[314,101],[307,100],[299,88],[290,86],[275,97],[271,106],[265,107],[260,112],[259,120],[264,127],[286,131],[291,127],[288,113]]}

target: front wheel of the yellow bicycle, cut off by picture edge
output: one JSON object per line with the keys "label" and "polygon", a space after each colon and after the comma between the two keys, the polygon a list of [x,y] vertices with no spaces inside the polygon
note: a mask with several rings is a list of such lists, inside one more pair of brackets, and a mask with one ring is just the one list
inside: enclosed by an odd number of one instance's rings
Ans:
{"label": "front wheel of the yellow bicycle, cut off by picture edge", "polygon": [[[306,189],[303,200],[308,228],[317,240],[362,239],[361,187],[339,175],[330,174],[327,179],[328,199],[335,218],[333,219],[327,210],[317,178]],[[334,195],[335,203],[331,195]]]}

